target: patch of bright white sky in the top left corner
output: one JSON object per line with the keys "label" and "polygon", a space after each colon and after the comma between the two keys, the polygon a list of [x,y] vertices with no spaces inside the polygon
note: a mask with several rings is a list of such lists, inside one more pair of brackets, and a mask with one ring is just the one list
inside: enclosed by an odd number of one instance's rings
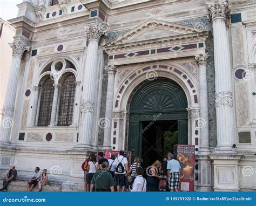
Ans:
{"label": "patch of bright white sky in the top left corner", "polygon": [[4,20],[17,17],[17,4],[22,3],[22,0],[0,0],[0,17]]}

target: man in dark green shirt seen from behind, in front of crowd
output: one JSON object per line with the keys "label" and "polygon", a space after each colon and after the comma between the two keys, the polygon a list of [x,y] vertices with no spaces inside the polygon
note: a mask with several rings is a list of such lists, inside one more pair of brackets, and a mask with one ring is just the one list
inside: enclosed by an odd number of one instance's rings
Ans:
{"label": "man in dark green shirt seen from behind, in front of crowd", "polygon": [[96,171],[91,180],[90,191],[93,190],[95,186],[95,191],[114,191],[114,180],[107,168],[109,167],[109,162],[102,163],[102,169]]}

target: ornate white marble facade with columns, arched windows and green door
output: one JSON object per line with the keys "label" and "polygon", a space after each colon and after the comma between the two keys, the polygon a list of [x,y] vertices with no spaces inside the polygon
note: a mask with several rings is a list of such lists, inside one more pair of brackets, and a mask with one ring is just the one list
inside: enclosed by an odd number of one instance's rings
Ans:
{"label": "ornate white marble facade with columns, arched windows and green door", "polygon": [[146,167],[172,149],[169,131],[196,146],[198,191],[255,190],[255,6],[18,4],[1,170],[15,162],[25,179],[39,166],[63,191],[82,190],[85,156],[130,150]]}

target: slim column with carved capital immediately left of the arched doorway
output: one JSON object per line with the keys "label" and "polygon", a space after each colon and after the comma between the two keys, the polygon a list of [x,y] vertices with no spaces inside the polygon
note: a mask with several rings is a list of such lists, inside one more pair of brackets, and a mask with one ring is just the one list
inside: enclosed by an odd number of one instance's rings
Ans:
{"label": "slim column with carved capital immediately left of the arched doorway", "polygon": [[106,111],[104,125],[104,142],[103,147],[111,147],[111,128],[112,128],[112,111],[113,111],[113,96],[114,96],[114,75],[117,68],[113,65],[105,67],[106,73],[109,76],[107,80],[107,95],[106,95]]}

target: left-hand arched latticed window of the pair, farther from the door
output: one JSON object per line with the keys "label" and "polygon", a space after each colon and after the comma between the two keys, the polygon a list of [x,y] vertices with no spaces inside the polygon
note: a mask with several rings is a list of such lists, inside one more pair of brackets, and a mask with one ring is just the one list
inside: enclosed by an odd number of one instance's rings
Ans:
{"label": "left-hand arched latticed window of the pair, farther from the door", "polygon": [[[54,81],[47,75],[41,82],[39,112],[37,126],[48,126],[51,121]],[[40,84],[39,84],[40,85]]]}

